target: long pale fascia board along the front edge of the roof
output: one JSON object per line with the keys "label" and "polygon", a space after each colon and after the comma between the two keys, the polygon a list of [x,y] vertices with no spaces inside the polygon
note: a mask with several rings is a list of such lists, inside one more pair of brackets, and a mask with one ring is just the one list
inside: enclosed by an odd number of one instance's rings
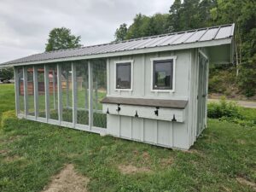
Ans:
{"label": "long pale fascia board along the front edge of the roof", "polygon": [[161,46],[161,47],[157,46],[157,47],[146,48],[146,49],[123,50],[123,51],[118,51],[118,52],[109,52],[109,53],[94,54],[94,55],[72,56],[72,57],[65,57],[65,58],[52,59],[52,60],[27,61],[27,62],[20,62],[20,63],[2,64],[2,65],[0,65],[0,67],[1,66],[2,67],[26,66],[26,65],[36,65],[36,64],[53,63],[53,62],[61,62],[61,61],[90,60],[90,59],[107,58],[107,57],[120,56],[120,55],[137,55],[137,54],[154,53],[154,52],[161,52],[161,51],[167,51],[167,50],[212,47],[212,46],[218,46],[218,45],[222,45],[222,44],[231,44],[231,43],[232,43],[232,37],[222,38],[222,39],[214,39],[211,41],[195,42],[195,43],[189,43],[189,44],[166,45],[166,46]]}

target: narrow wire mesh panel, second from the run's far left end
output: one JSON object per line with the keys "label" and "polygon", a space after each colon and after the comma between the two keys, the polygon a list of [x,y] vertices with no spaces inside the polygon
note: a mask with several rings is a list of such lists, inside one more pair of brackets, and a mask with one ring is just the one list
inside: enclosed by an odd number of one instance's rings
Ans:
{"label": "narrow wire mesh panel, second from the run's far left end", "polygon": [[29,67],[26,69],[27,72],[27,104],[28,104],[28,114],[35,115],[35,108],[34,108],[34,81],[33,81],[33,68]]}

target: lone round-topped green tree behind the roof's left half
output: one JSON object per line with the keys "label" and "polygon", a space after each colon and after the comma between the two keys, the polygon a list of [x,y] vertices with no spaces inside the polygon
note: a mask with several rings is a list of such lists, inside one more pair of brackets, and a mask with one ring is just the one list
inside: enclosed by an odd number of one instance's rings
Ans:
{"label": "lone round-topped green tree behind the roof's left half", "polygon": [[45,44],[45,51],[79,48],[81,37],[71,34],[70,29],[65,27],[54,28],[49,32],[48,43]]}

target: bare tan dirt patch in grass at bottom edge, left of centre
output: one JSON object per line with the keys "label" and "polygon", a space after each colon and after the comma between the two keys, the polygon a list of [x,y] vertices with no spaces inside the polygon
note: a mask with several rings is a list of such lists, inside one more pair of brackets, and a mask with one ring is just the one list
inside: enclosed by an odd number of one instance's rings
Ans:
{"label": "bare tan dirt patch in grass at bottom edge, left of centre", "polygon": [[68,164],[42,192],[88,192],[86,186],[89,181],[89,178],[75,172],[72,164]]}

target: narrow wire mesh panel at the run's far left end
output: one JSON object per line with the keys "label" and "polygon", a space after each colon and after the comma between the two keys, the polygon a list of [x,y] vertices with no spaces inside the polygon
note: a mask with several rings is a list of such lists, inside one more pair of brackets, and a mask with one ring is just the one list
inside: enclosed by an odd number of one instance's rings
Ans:
{"label": "narrow wire mesh panel at the run's far left end", "polygon": [[24,78],[23,78],[23,68],[18,67],[17,68],[18,72],[18,87],[19,87],[19,111],[18,113],[24,114],[25,113],[25,106],[24,106]]}

